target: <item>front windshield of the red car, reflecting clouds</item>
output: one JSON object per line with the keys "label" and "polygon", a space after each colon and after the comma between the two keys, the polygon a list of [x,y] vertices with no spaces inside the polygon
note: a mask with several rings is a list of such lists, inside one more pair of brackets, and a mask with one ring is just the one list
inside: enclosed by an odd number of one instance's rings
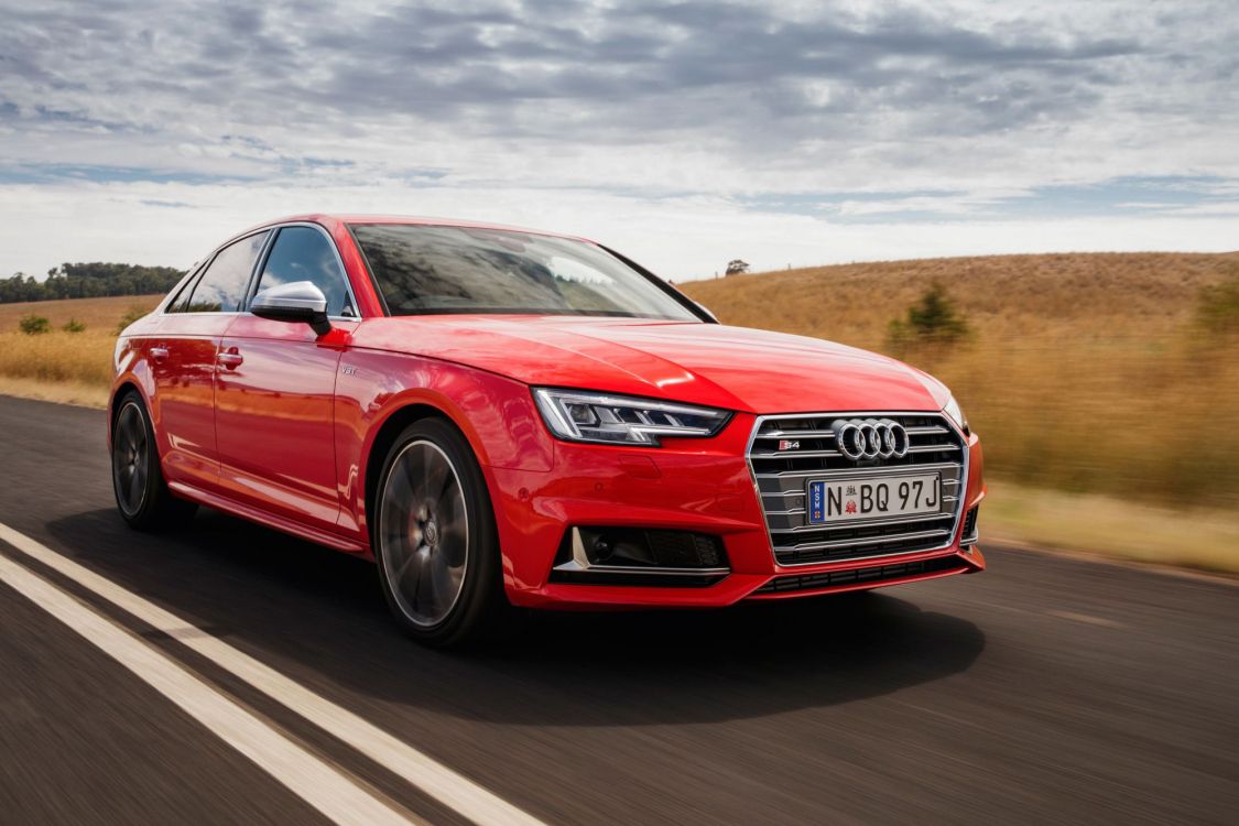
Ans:
{"label": "front windshield of the red car, reflecting clouds", "polygon": [[700,321],[606,250],[515,230],[353,224],[393,316],[532,313]]}

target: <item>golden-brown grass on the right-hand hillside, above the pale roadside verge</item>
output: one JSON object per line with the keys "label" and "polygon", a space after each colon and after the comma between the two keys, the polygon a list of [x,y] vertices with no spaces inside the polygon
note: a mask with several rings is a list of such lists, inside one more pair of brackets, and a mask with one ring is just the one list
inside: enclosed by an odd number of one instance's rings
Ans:
{"label": "golden-brown grass on the right-hand hillside, above the pale roadside verge", "polygon": [[973,328],[903,358],[943,379],[999,478],[1123,499],[1239,503],[1239,343],[1194,324],[1239,254],[892,261],[681,285],[724,322],[882,350],[934,281]]}

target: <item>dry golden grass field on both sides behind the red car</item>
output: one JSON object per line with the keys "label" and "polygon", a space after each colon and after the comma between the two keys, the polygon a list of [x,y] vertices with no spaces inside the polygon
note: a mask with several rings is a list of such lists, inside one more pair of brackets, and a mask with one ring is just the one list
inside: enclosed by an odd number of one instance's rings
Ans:
{"label": "dry golden grass field on both sides behind the red car", "polygon": [[[1202,289],[1239,254],[1063,254],[852,264],[681,284],[726,323],[888,350],[933,282],[970,327],[901,358],[939,376],[985,442],[983,533],[1239,571],[1239,337]],[[102,405],[119,320],[159,296],[0,305],[0,393]],[[53,332],[25,336],[46,316]],[[71,318],[81,333],[61,327]]]}

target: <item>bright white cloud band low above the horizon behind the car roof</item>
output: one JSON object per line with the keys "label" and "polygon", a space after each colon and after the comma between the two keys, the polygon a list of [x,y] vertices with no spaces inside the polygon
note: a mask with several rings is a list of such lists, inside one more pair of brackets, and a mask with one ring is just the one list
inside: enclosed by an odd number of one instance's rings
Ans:
{"label": "bright white cloud band low above the horizon behind the car roof", "polygon": [[[176,206],[186,204],[186,206]],[[615,246],[672,280],[710,277],[741,256],[787,265],[1011,251],[1234,249],[1234,212],[1215,215],[1073,217],[1022,220],[891,220],[838,224],[762,213],[689,196],[650,201],[585,189],[83,183],[0,191],[0,249],[41,274],[62,261],[188,266],[245,227],[304,212],[460,215],[553,228]],[[53,249],[52,258],[47,250]]]}

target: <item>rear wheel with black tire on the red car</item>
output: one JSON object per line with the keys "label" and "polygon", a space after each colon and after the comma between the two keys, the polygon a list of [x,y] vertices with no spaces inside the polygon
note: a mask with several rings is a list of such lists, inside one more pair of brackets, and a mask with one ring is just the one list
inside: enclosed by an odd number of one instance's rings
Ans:
{"label": "rear wheel with black tire on the red car", "polygon": [[150,415],[134,391],[116,400],[112,420],[112,490],[120,516],[138,530],[183,525],[198,509],[167,489]]}

